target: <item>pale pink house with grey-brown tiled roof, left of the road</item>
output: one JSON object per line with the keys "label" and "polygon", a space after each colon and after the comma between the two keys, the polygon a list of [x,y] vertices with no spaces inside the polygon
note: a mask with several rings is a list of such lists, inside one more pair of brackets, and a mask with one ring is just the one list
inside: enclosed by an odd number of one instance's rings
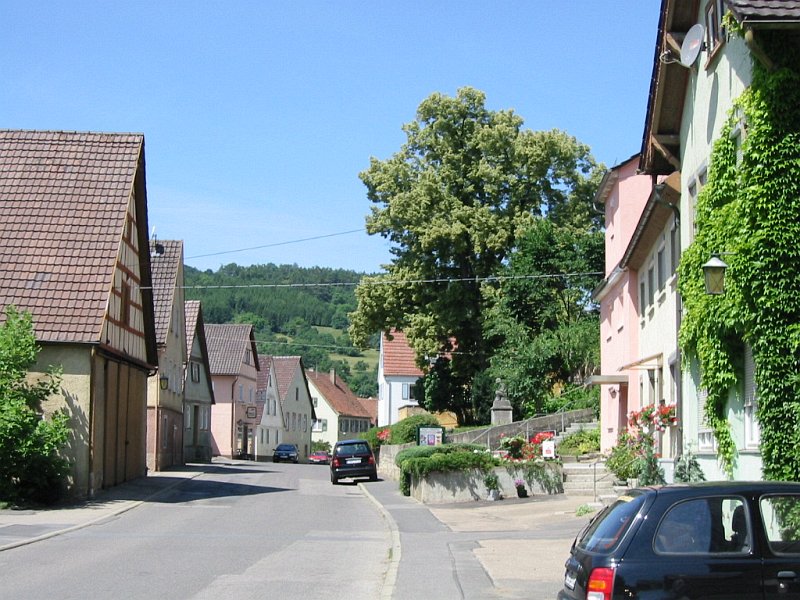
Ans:
{"label": "pale pink house with grey-brown tiled roof, left of the road", "polygon": [[214,387],[211,453],[255,456],[254,434],[263,403],[256,394],[259,363],[253,326],[207,324],[205,336]]}

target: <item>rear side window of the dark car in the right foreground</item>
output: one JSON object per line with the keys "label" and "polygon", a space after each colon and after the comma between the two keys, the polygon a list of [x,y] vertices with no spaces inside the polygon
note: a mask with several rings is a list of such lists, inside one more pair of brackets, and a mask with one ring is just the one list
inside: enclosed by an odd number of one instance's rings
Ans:
{"label": "rear side window of the dark car in the right foreground", "polygon": [[743,498],[715,496],[671,506],[658,524],[653,547],[663,554],[746,553],[750,524]]}

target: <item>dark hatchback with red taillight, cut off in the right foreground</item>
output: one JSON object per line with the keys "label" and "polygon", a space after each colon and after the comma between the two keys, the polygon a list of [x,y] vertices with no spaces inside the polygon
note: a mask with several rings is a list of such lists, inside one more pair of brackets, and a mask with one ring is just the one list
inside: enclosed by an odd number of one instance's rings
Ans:
{"label": "dark hatchback with red taillight, cut off in the right foreground", "polygon": [[578,534],[559,600],[800,598],[800,483],[633,489]]}

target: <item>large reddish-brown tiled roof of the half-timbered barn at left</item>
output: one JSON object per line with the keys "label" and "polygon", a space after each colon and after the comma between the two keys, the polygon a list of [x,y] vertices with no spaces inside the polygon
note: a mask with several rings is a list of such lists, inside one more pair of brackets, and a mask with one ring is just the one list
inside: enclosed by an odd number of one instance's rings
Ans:
{"label": "large reddish-brown tiled roof of the half-timbered barn at left", "polygon": [[99,342],[138,178],[141,134],[0,130],[0,313],[29,310],[39,341]]}

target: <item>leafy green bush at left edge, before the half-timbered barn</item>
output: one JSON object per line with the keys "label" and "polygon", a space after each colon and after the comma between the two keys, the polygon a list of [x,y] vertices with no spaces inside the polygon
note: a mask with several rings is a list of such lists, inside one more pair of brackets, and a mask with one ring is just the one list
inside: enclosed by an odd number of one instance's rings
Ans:
{"label": "leafy green bush at left edge, before the half-timbered barn", "polygon": [[31,315],[13,306],[5,315],[0,325],[0,500],[49,503],[58,499],[69,471],[59,454],[69,437],[69,417],[41,414],[42,402],[58,391],[60,373],[51,369],[28,381],[38,353]]}

